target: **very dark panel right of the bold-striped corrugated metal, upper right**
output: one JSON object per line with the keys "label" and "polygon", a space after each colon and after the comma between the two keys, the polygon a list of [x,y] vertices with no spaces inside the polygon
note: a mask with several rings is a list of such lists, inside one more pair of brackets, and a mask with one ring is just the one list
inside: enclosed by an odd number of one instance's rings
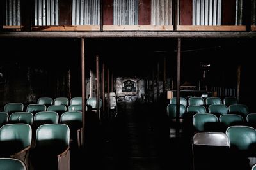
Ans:
{"label": "very dark panel right of the bold-striped corrugated metal, upper right", "polygon": [[236,0],[222,1],[221,25],[235,25],[236,22]]}

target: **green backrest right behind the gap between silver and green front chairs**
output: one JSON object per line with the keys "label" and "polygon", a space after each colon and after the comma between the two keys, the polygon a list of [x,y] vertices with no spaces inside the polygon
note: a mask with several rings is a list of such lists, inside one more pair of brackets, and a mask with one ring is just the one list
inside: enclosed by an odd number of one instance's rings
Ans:
{"label": "green backrest right behind the gap between silver and green front chairs", "polygon": [[226,127],[230,127],[232,125],[242,125],[244,122],[243,117],[235,114],[220,115],[219,119],[220,123],[225,124]]}

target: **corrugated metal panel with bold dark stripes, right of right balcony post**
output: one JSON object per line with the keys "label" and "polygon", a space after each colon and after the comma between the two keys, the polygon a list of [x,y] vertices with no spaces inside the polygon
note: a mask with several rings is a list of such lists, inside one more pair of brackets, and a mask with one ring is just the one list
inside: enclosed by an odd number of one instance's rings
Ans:
{"label": "corrugated metal panel with bold dark stripes, right of right balcony post", "polygon": [[193,0],[193,25],[221,25],[221,0]]}

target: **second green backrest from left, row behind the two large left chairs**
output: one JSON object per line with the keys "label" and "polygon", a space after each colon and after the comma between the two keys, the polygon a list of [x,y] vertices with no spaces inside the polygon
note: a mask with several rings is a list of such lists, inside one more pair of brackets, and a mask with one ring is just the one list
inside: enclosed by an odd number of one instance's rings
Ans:
{"label": "second green backrest from left, row behind the two large left chairs", "polygon": [[10,115],[8,123],[17,124],[24,123],[32,125],[33,123],[33,114],[30,112],[15,112]]}

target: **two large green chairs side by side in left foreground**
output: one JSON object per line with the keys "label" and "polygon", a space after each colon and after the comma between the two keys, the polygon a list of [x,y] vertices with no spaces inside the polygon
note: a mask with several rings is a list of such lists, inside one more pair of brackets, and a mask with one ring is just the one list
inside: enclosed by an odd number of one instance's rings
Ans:
{"label": "two large green chairs side by side in left foreground", "polygon": [[40,125],[32,146],[29,124],[6,124],[0,128],[0,150],[0,157],[19,159],[28,169],[70,169],[70,129],[65,124]]}

